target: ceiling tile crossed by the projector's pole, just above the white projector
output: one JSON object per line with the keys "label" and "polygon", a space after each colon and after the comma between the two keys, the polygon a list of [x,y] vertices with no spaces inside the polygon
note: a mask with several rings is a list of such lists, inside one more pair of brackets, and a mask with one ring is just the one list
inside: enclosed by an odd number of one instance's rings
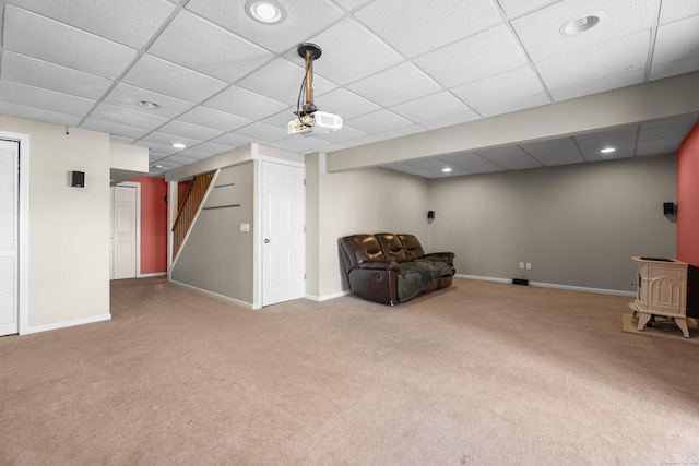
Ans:
{"label": "ceiling tile crossed by the projector's pole, just above the white projector", "polygon": [[[306,94],[301,91],[305,91],[303,84],[306,72],[304,70],[304,60],[298,57],[297,61],[300,65],[279,58],[260,68],[246,79],[240,80],[237,85],[280,101],[285,101],[293,107],[296,107],[296,103],[300,97],[300,104],[303,106]],[[337,86],[330,81],[320,76],[313,76],[313,100],[316,96],[328,93],[335,87]]]}

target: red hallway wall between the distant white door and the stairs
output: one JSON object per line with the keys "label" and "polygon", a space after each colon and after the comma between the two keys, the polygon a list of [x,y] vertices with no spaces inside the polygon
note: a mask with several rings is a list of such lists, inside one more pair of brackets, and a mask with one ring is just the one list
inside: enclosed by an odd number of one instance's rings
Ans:
{"label": "red hallway wall between the distant white door and the stairs", "polygon": [[167,183],[163,178],[138,177],[141,183],[141,274],[167,272]]}

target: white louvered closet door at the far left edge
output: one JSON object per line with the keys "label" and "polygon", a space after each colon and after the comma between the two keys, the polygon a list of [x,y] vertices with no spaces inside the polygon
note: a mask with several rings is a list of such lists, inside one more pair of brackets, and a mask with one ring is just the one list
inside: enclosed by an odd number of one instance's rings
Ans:
{"label": "white louvered closet door at the far left edge", "polygon": [[17,333],[20,143],[0,140],[0,335]]}

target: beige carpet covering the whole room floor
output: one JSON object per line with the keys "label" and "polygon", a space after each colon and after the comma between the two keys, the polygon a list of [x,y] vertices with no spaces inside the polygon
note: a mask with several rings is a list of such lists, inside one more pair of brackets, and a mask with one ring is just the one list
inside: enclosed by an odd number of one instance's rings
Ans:
{"label": "beige carpet covering the whole room floor", "polygon": [[162,278],[111,292],[111,321],[0,338],[0,464],[699,462],[699,347],[623,332],[626,297],[454,279],[393,308],[251,311]]}

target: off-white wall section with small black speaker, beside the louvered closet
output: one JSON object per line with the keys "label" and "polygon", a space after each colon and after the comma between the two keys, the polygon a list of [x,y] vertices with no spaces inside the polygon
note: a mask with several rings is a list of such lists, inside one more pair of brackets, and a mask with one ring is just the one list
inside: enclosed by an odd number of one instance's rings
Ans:
{"label": "off-white wall section with small black speaker, beside the louvered closet", "polygon": [[29,135],[25,331],[109,319],[109,135],[7,116],[0,129]]}

